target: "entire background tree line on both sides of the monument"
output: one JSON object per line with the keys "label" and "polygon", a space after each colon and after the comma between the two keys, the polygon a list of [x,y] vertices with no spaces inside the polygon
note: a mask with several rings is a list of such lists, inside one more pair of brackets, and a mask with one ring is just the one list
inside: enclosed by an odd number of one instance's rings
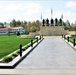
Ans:
{"label": "entire background tree line on both sides of the monument", "polygon": [[[22,26],[25,28],[25,31],[26,33],[29,33],[29,32],[36,32],[36,31],[39,31],[40,30],[40,26],[41,26],[41,21],[39,20],[36,20],[36,21],[20,21],[20,20],[15,20],[13,19],[11,22],[10,22],[10,26],[11,27],[18,27],[18,26]],[[6,24],[6,22],[4,23],[0,23],[0,27],[4,27],[4,24]],[[76,31],[76,25],[73,25],[73,24],[70,24],[70,22],[67,20],[65,22],[63,22],[63,25],[64,25],[64,29],[65,30],[69,30],[69,31]]]}

